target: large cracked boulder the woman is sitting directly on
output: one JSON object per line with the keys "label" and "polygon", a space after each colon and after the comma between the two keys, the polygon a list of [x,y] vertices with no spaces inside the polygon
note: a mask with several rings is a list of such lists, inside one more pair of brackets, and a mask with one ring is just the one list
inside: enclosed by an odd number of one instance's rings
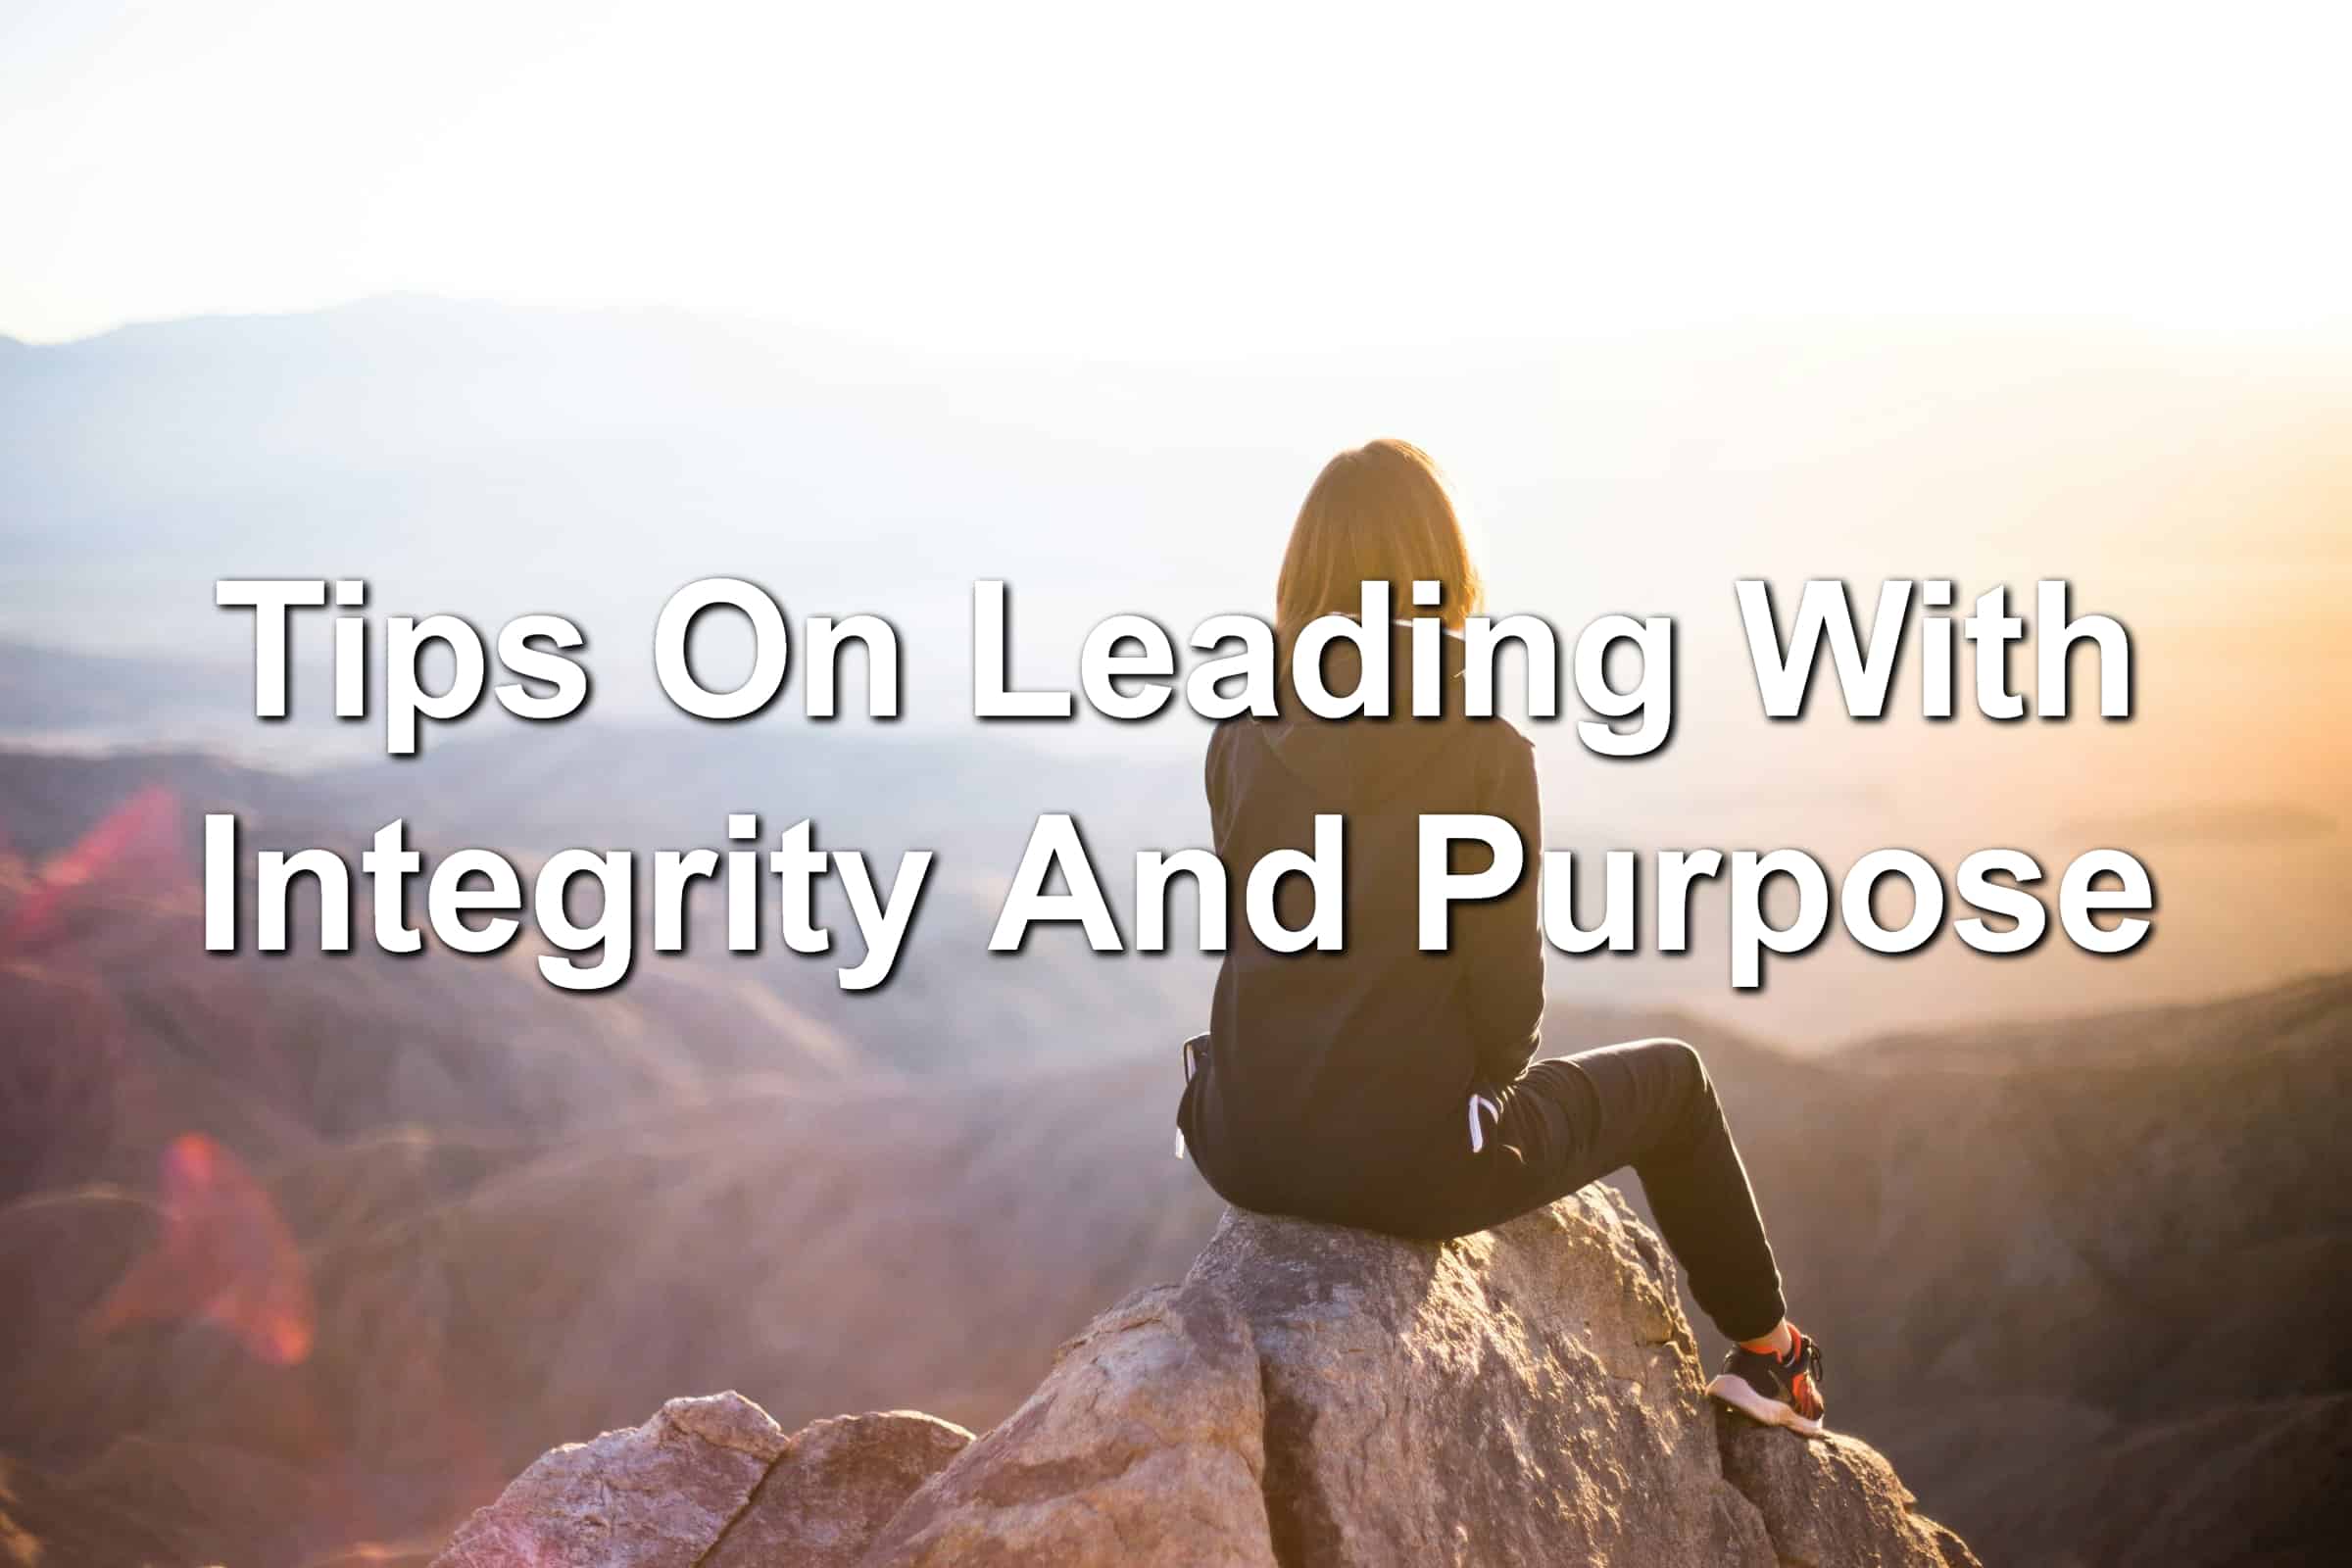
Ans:
{"label": "large cracked boulder the woman is sitting directly on", "polygon": [[1670,1267],[1606,1190],[1444,1246],[1228,1213],[868,1561],[1769,1568]]}

